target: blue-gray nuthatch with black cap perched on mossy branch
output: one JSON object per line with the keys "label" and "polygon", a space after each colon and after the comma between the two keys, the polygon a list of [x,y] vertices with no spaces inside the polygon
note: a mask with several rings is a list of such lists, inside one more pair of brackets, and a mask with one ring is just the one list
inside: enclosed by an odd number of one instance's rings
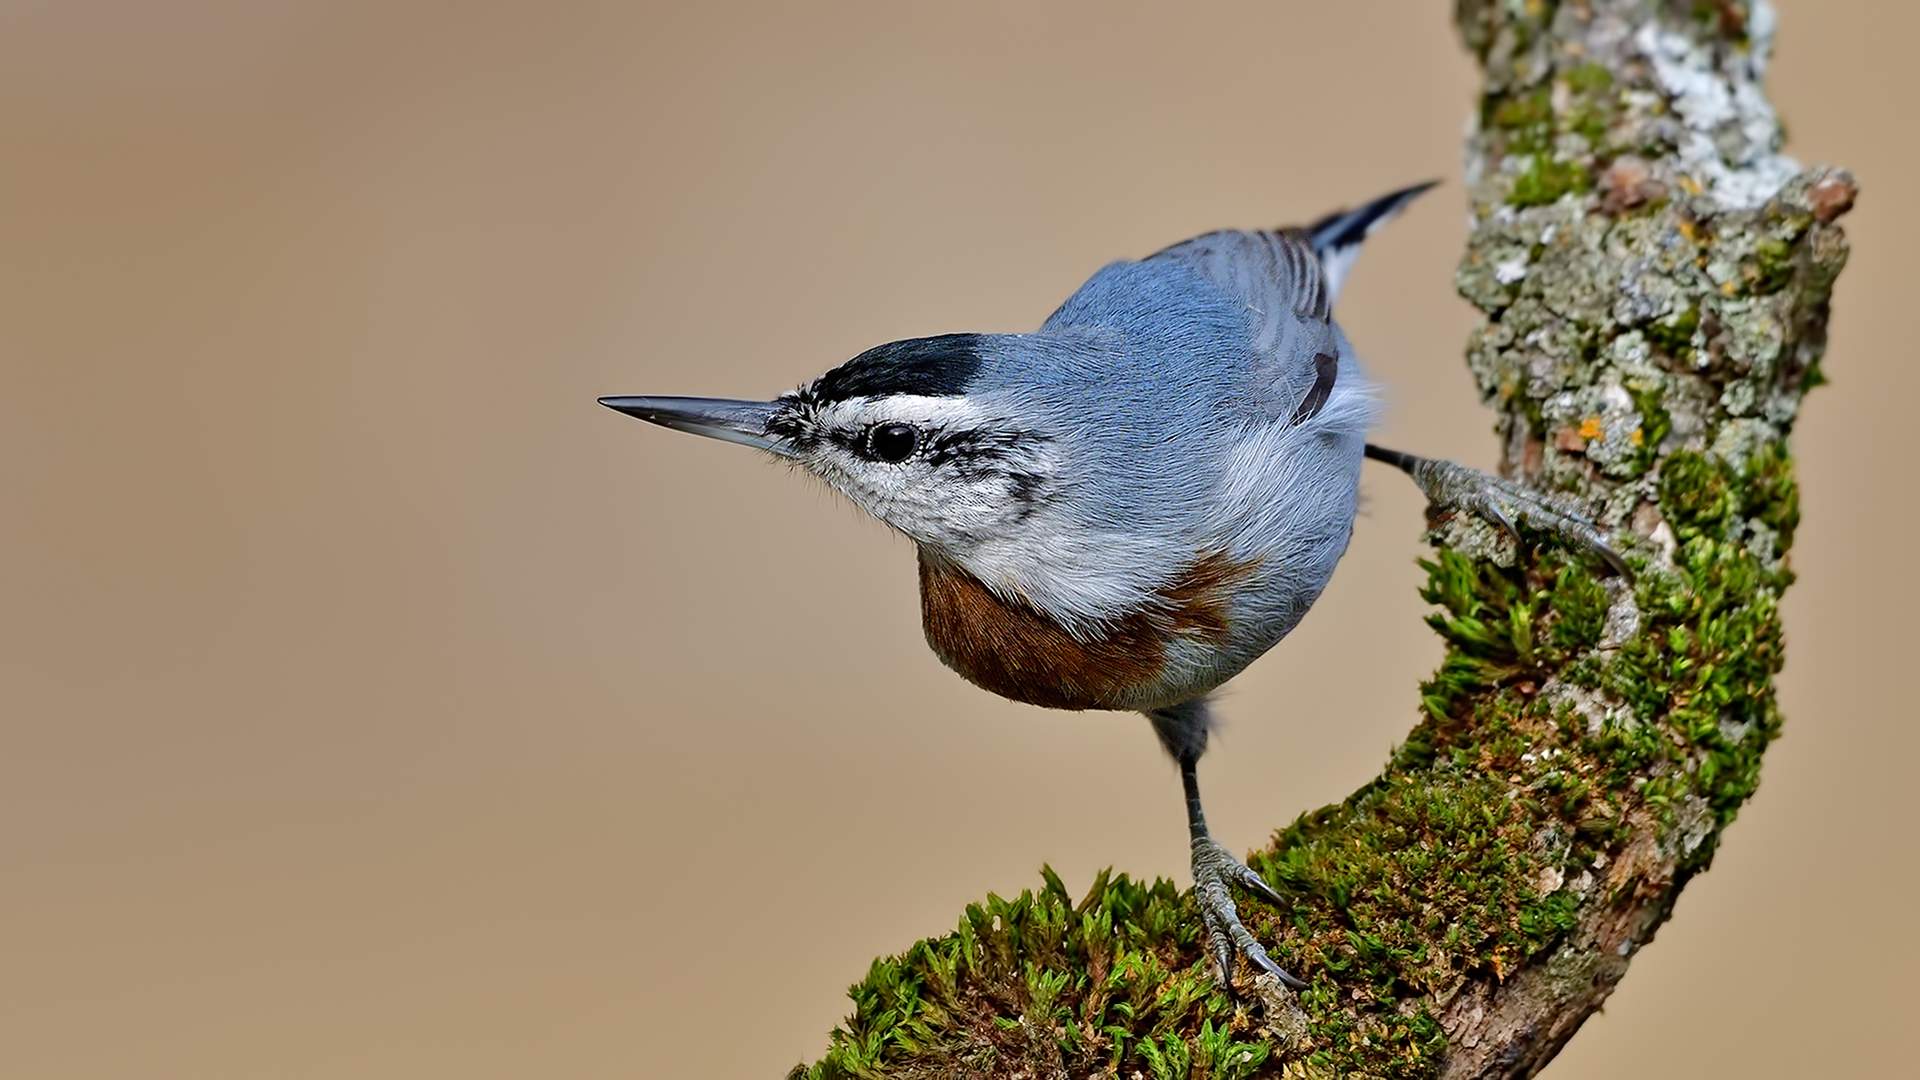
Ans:
{"label": "blue-gray nuthatch with black cap perched on mossy branch", "polygon": [[1346,552],[1363,459],[1434,509],[1626,565],[1578,507],[1367,442],[1377,392],[1332,319],[1361,242],[1434,181],[1306,227],[1217,231],[1096,271],[1033,332],[881,344],[768,402],[614,396],[751,446],[914,542],[927,644],[975,686],[1144,713],[1181,773],[1215,978],[1235,957],[1300,990],[1233,886],[1286,905],[1213,840],[1208,696],[1281,642]]}

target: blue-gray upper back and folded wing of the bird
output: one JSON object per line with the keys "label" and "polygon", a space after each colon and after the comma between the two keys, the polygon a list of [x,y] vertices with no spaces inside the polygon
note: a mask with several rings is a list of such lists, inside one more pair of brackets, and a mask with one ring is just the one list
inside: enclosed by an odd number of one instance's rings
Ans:
{"label": "blue-gray upper back and folded wing of the bird", "polygon": [[1071,473],[1100,480],[1075,492],[1089,525],[1190,532],[1246,436],[1298,413],[1317,356],[1365,396],[1329,300],[1302,234],[1212,233],[1100,269],[1035,334],[987,338],[973,386],[1071,432]]}

